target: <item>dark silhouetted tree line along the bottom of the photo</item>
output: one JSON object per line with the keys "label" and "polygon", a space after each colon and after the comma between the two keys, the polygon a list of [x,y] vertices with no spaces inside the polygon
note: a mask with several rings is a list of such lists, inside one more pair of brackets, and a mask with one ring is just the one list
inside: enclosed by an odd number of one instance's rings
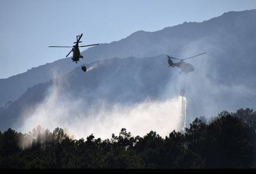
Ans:
{"label": "dark silhouetted tree line along the bottom of the photo", "polygon": [[256,112],[196,118],[184,132],[74,140],[65,129],[0,132],[0,168],[255,168]]}

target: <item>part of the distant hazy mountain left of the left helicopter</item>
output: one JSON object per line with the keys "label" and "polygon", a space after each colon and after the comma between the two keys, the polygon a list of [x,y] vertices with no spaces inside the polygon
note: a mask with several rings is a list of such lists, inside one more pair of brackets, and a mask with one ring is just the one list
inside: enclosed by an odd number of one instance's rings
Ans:
{"label": "part of the distant hazy mountain left of the left helicopter", "polygon": [[60,59],[36,68],[28,69],[25,73],[0,79],[0,106],[8,101],[15,101],[28,87],[37,83],[47,82],[76,68],[70,59]]}

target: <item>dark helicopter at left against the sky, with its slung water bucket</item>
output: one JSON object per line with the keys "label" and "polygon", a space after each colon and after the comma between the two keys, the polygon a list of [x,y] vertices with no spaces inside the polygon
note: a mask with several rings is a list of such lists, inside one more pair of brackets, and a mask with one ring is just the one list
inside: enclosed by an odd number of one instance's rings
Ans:
{"label": "dark helicopter at left against the sky, with its slung water bucket", "polygon": [[[70,50],[70,52],[68,52],[68,54],[66,55],[66,57],[68,57],[68,55],[69,55],[71,52],[73,52],[73,56],[72,56],[71,59],[72,59],[73,62],[76,62],[76,63],[77,63],[77,61],[79,61],[80,58],[83,59],[83,55],[81,55],[80,50],[79,50],[79,47],[90,47],[90,46],[99,45],[99,43],[96,43],[96,44],[91,44],[91,45],[82,45],[82,46],[79,46],[79,43],[82,42],[82,41],[80,41],[81,38],[82,38],[82,36],[83,36],[83,33],[82,33],[81,35],[78,34],[78,35],[76,36],[76,41],[74,42],[75,45],[72,46],[72,47],[69,47],[69,46],[68,46],[68,47],[66,47],[66,46],[49,46],[49,47],[72,48],[72,50]],[[82,69],[83,69],[83,71],[84,71],[84,70],[86,71],[86,67],[85,67],[85,66],[83,66]]]}

